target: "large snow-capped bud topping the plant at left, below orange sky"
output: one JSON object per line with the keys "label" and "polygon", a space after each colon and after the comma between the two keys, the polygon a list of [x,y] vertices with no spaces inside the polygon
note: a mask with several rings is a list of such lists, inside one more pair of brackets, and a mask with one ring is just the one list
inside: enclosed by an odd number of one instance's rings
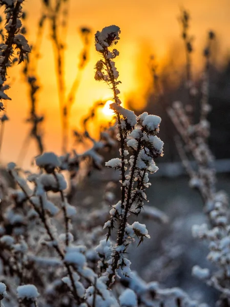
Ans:
{"label": "large snow-capped bud topping the plant at left, below orange sky", "polygon": [[61,165],[60,159],[54,152],[44,152],[42,155],[35,158],[36,165],[44,168],[48,173],[54,171],[55,168]]}

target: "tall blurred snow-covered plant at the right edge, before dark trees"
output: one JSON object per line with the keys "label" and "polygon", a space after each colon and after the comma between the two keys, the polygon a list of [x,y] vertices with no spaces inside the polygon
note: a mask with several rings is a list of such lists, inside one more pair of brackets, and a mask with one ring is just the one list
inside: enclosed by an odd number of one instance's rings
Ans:
{"label": "tall blurred snow-covered plant at the right edge, before dark trees", "polygon": [[[195,225],[193,235],[208,242],[210,253],[208,253],[207,259],[213,262],[217,268],[210,272],[208,269],[195,266],[193,275],[205,280],[207,284],[219,290],[222,294],[222,302],[229,305],[229,202],[226,193],[217,190],[214,157],[208,146],[210,123],[207,120],[207,115],[211,111],[211,105],[208,103],[208,77],[211,45],[214,37],[215,34],[210,31],[207,46],[203,53],[205,67],[202,76],[198,123],[193,124],[191,122],[179,101],[173,103],[168,113],[182,140],[177,140],[177,148],[186,172],[190,176],[190,186],[200,192],[204,211],[209,220],[209,225]],[[195,167],[191,164],[190,158],[195,160]]]}

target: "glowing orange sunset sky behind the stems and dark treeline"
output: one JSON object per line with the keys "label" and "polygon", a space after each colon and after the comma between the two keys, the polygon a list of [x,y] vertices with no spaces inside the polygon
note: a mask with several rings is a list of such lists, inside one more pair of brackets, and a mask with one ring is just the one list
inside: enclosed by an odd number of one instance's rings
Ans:
{"label": "glowing orange sunset sky behind the stems and dark treeline", "polygon": [[[34,31],[39,18],[39,0],[27,0],[25,9],[28,12],[27,28],[30,42],[34,41]],[[113,5],[114,3],[114,5]],[[148,59],[150,54],[157,55],[159,63],[168,57],[169,49],[175,43],[183,48],[179,38],[180,27],[177,16],[179,8],[184,7],[192,15],[191,33],[195,35],[195,47],[199,62],[207,30],[214,30],[220,41],[219,58],[230,51],[230,2],[229,0],[70,0],[70,19],[66,51],[66,83],[69,89],[77,69],[77,60],[81,50],[81,41],[77,29],[81,26],[92,28],[93,33],[111,24],[121,28],[121,39],[117,45],[120,51],[117,68],[120,72],[121,98],[125,100],[131,94],[137,103],[143,103],[144,91],[150,84]],[[47,27],[46,27],[47,29]],[[46,30],[41,46],[41,59],[38,74],[41,91],[38,95],[39,110],[45,114],[44,125],[45,147],[60,153],[60,118],[52,45]],[[94,50],[93,36],[90,50],[90,61],[83,72],[76,102],[73,107],[71,124],[79,127],[79,119],[87,114],[88,107],[98,99],[110,98],[106,84],[94,80],[94,65],[99,58]],[[142,62],[140,59],[142,58]],[[137,61],[138,65],[137,65]],[[8,92],[12,101],[8,102],[7,115],[10,121],[6,124],[4,143],[1,153],[3,162],[16,161],[18,151],[28,133],[24,119],[28,114],[27,88],[19,75],[20,67],[9,72],[12,89]],[[36,155],[31,142],[28,151],[29,166]]]}

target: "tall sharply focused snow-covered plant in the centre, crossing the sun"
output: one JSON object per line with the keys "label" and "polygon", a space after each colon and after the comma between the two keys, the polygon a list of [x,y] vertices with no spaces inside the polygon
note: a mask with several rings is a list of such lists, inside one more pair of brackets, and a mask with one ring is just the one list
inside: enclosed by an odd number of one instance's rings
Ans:
{"label": "tall sharply focused snow-covered plant in the centre, crossing the sun", "polygon": [[[159,131],[160,117],[143,113],[136,116],[121,106],[119,99],[118,71],[114,59],[119,55],[113,49],[119,40],[120,29],[117,26],[103,28],[95,34],[95,47],[101,54],[96,63],[96,80],[105,81],[113,91],[110,107],[117,116],[118,140],[120,141],[120,157],[111,159],[106,166],[121,172],[121,200],[110,211],[111,217],[104,228],[108,230],[107,240],[116,226],[116,244],[113,246],[108,268],[104,272],[104,280],[111,287],[117,274],[130,275],[130,261],[124,257],[129,244],[135,236],[139,243],[149,238],[145,225],[128,223],[131,214],[138,215],[147,200],[145,189],[149,187],[149,172],[156,172],[158,167],[154,159],[163,155],[163,142],[156,136]],[[118,273],[119,270],[119,273]]]}

